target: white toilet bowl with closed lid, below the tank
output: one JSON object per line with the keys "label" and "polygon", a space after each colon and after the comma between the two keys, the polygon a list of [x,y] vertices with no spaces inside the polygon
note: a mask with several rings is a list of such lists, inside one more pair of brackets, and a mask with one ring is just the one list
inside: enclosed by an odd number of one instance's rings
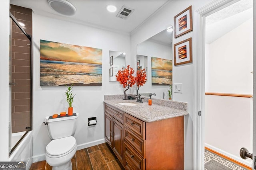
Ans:
{"label": "white toilet bowl with closed lid, below the tank", "polygon": [[46,162],[52,170],[71,170],[76,149],[76,139],[72,136],[52,140],[46,146]]}

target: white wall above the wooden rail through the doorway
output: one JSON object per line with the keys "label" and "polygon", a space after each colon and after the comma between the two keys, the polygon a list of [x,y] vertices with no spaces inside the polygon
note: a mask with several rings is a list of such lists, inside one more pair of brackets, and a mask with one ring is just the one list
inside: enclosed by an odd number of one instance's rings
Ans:
{"label": "white wall above the wooden rail through the doorway", "polygon": [[252,49],[252,18],[210,43],[206,92],[252,94]]}

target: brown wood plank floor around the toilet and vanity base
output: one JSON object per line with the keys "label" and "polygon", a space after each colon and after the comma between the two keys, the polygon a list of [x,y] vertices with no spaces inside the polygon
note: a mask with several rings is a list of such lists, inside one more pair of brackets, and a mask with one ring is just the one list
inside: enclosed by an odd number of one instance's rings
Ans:
{"label": "brown wood plank floor around the toilet and vanity base", "polygon": [[[124,170],[107,143],[77,150],[71,162],[72,170]],[[33,163],[30,170],[52,170],[52,166],[44,160]]]}

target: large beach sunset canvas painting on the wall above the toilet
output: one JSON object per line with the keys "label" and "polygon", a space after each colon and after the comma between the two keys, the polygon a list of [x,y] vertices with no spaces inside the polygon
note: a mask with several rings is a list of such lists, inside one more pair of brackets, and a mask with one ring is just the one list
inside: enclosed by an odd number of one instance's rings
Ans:
{"label": "large beach sunset canvas painting on the wall above the toilet", "polygon": [[102,49],[40,40],[40,86],[102,86]]}

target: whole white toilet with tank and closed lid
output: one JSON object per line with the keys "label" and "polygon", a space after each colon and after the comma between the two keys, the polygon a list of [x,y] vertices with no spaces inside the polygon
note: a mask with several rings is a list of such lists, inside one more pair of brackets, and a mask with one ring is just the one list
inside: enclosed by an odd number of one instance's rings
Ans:
{"label": "whole white toilet with tank and closed lid", "polygon": [[46,146],[46,162],[52,166],[52,170],[72,170],[71,159],[76,153],[76,139],[73,137],[76,131],[76,118],[79,113],[72,116],[52,118],[46,116],[45,124],[48,135],[52,141]]}

